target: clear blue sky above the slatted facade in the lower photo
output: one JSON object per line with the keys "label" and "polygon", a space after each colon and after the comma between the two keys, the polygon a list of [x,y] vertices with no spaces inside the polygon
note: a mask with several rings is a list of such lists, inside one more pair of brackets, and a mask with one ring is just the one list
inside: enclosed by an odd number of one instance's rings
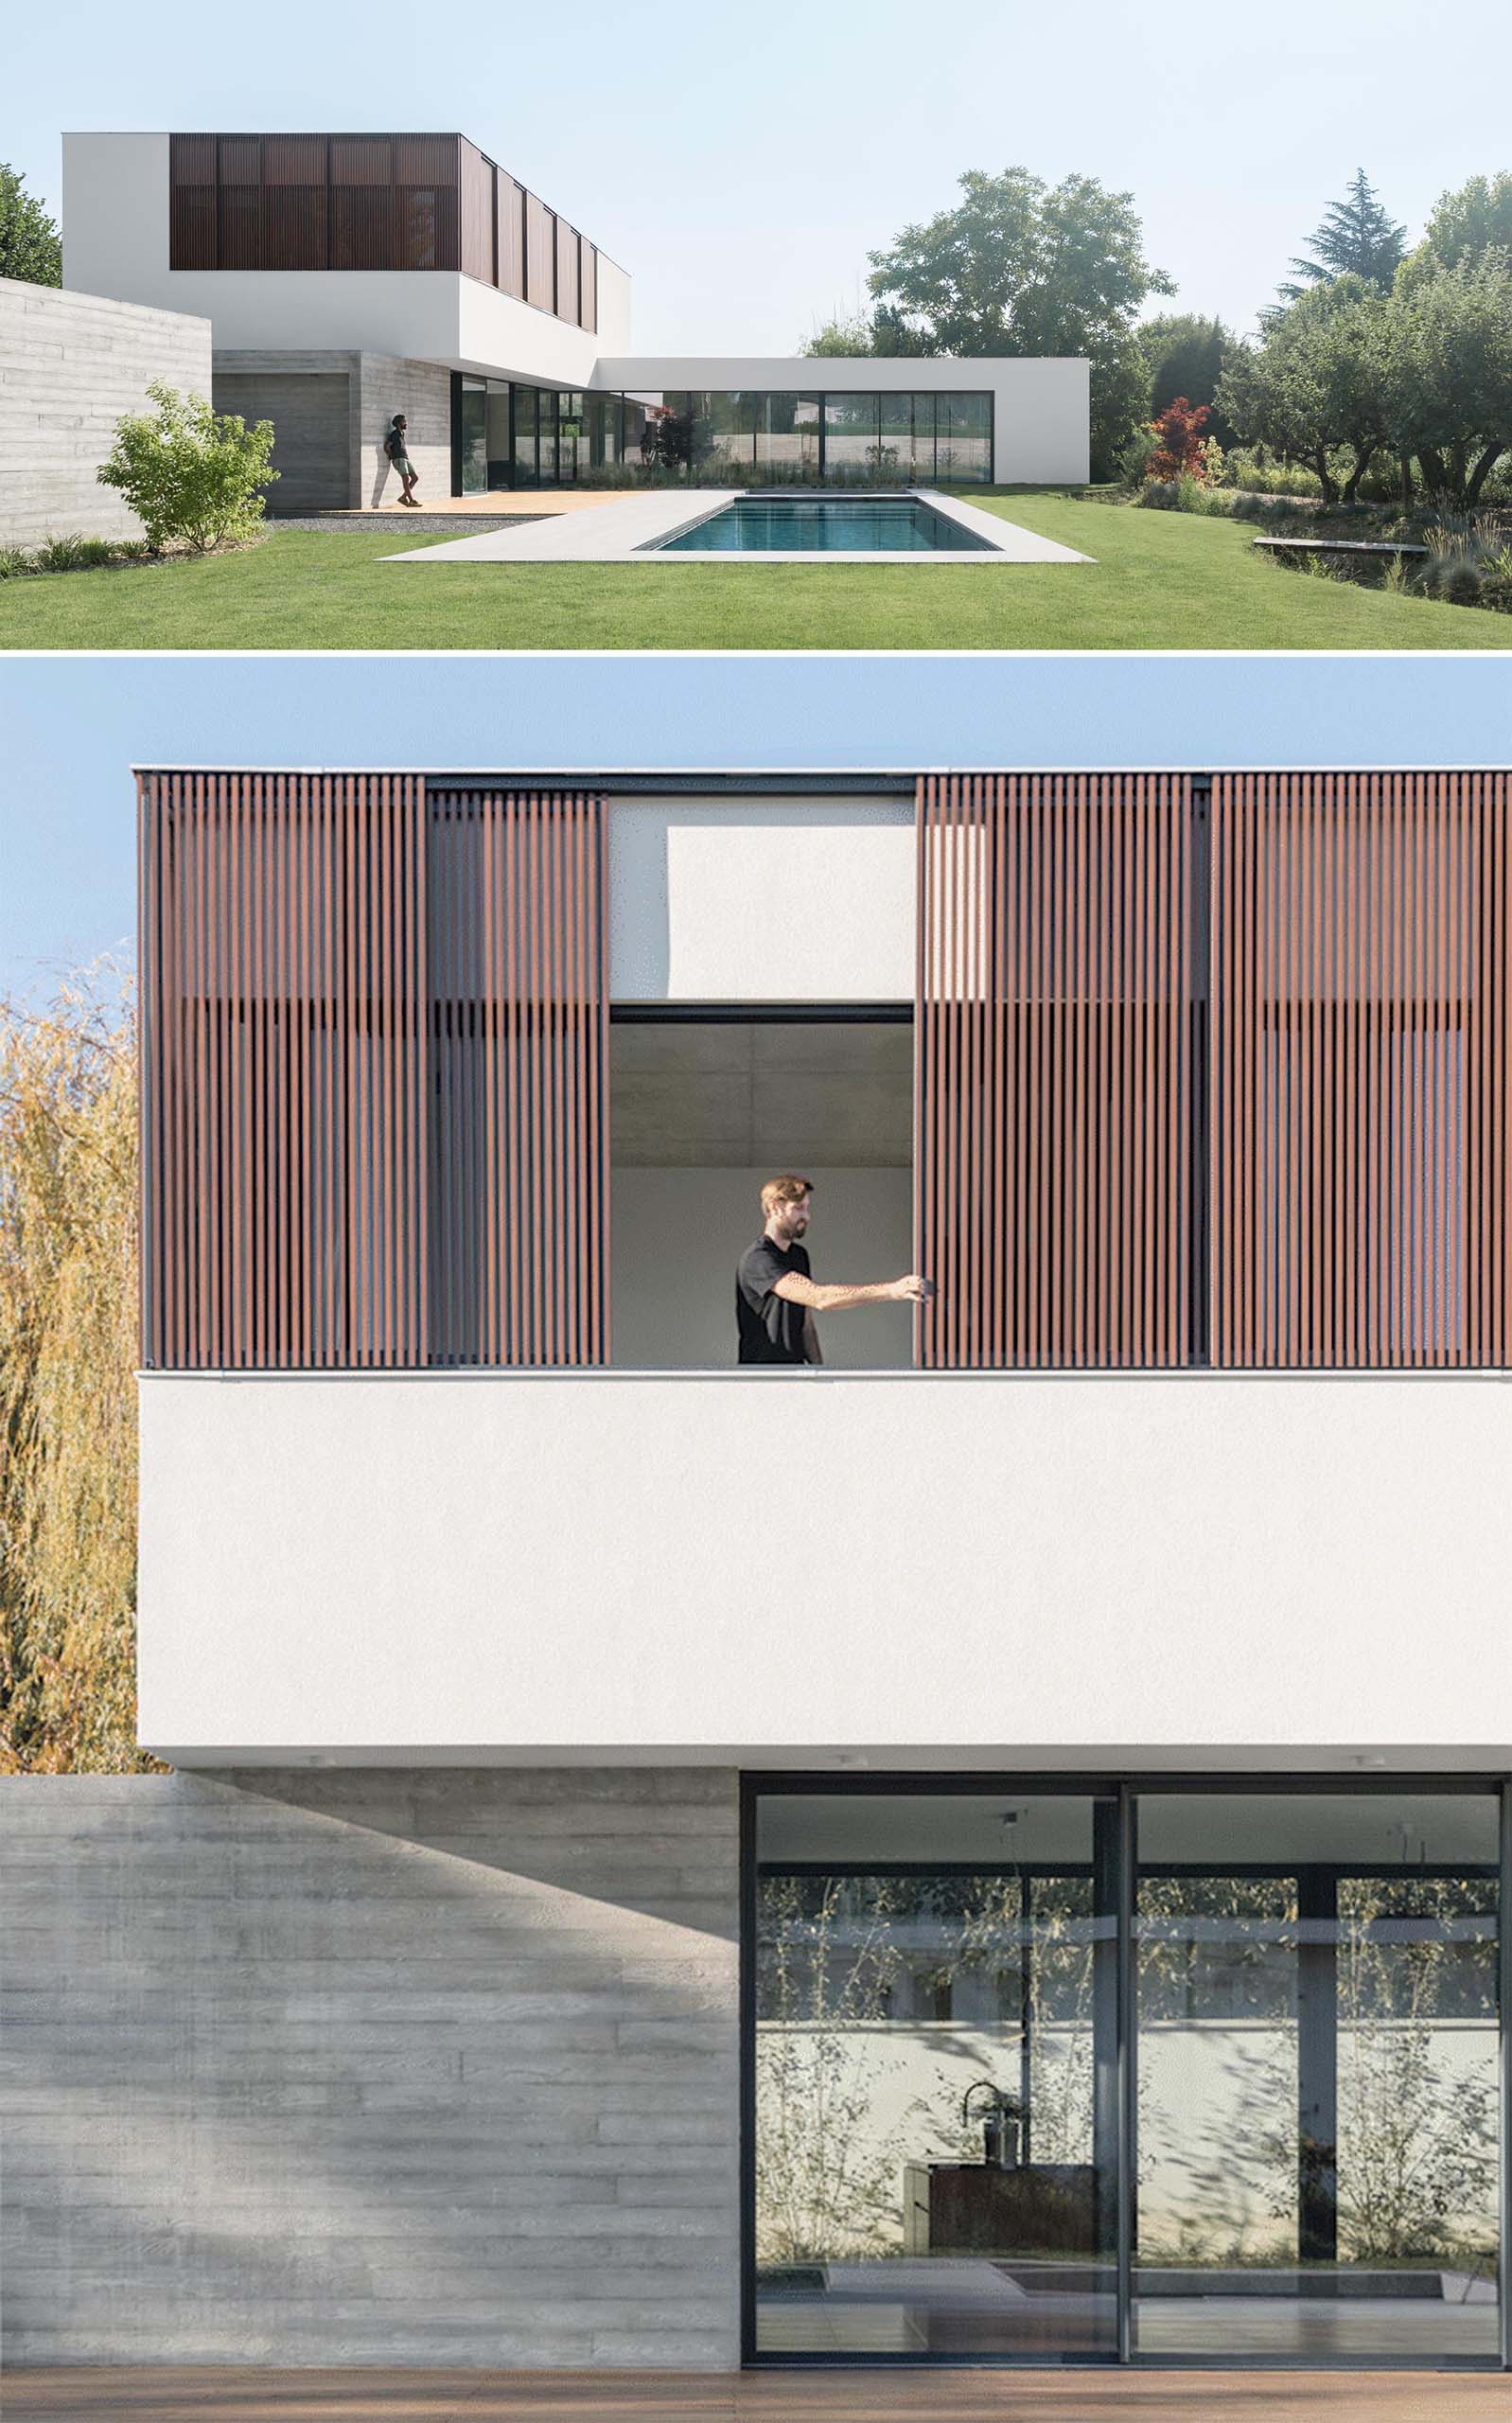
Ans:
{"label": "clear blue sky above the slatted facade in the lower photo", "polygon": [[131,763],[1507,763],[1495,657],[5,657],[0,993],[133,935]]}

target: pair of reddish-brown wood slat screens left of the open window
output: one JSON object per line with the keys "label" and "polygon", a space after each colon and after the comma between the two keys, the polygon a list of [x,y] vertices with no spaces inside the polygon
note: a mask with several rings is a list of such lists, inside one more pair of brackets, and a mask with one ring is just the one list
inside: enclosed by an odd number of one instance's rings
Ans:
{"label": "pair of reddish-brown wood slat screens left of the open window", "polygon": [[608,1350],[601,802],[141,778],[143,1359]]}

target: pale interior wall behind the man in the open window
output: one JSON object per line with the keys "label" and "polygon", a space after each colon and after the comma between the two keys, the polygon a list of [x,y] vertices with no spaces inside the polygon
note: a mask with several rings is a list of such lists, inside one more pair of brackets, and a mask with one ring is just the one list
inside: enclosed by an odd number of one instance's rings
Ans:
{"label": "pale interior wall behind the man in the open window", "polygon": [[[620,1168],[613,1178],[613,1362],[630,1371],[734,1364],[734,1265],[761,1236],[771,1168]],[[909,1170],[804,1170],[817,1279],[897,1279],[911,1267]],[[913,1362],[906,1304],[819,1318],[826,1364],[884,1371]]]}

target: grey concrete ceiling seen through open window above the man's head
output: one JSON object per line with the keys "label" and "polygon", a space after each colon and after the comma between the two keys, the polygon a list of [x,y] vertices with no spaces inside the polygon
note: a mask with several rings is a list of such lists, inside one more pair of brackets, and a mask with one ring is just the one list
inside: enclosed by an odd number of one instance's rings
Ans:
{"label": "grey concrete ceiling seen through open window above the man's head", "polygon": [[909,1168],[913,1030],[613,1025],[608,1100],[620,1168]]}

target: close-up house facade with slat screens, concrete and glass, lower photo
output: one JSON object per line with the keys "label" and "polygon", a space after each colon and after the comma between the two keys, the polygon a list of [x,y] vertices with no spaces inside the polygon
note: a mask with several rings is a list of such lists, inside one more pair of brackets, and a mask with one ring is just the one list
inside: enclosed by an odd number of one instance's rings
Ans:
{"label": "close-up house facade with slat screens, concrete and glass, lower photo", "polygon": [[1507,2367],[1512,775],[138,783],[12,2360]]}

